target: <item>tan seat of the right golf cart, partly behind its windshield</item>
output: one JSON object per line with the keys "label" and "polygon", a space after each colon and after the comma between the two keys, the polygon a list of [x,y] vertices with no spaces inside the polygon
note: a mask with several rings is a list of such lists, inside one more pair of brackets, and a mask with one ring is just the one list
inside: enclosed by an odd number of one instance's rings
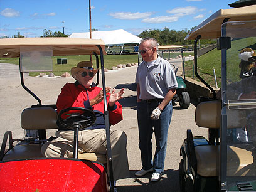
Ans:
{"label": "tan seat of the right golf cart, partly behind its windshield", "polygon": [[[233,113],[232,110],[228,110],[228,128],[245,127],[245,116],[240,116]],[[219,129],[220,128],[220,116],[221,116],[221,100],[213,100],[201,102],[196,106],[195,121],[199,127]],[[189,133],[189,132],[188,132]],[[187,138],[188,141],[193,141],[192,134]],[[193,143],[194,144],[194,143]],[[193,147],[192,147],[193,148]],[[219,175],[219,157],[220,146],[219,145],[195,145],[195,170],[200,176],[218,176]],[[193,149],[192,154],[193,156]],[[227,147],[227,175],[244,176],[252,173],[248,167],[248,164],[253,163],[252,151],[242,149],[238,144]],[[191,157],[190,157],[191,159]],[[193,159],[193,157],[192,157]],[[192,163],[193,164],[193,163]],[[254,170],[255,173],[255,170]]]}

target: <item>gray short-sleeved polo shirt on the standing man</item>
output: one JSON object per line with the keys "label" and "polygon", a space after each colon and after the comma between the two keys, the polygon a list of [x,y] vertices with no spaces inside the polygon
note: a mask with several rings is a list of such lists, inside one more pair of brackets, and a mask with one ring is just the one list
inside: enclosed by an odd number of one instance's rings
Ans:
{"label": "gray short-sleeved polo shirt on the standing man", "polygon": [[178,87],[173,67],[159,55],[154,65],[148,66],[142,61],[137,68],[135,82],[140,87],[139,99],[163,99],[171,88]]}

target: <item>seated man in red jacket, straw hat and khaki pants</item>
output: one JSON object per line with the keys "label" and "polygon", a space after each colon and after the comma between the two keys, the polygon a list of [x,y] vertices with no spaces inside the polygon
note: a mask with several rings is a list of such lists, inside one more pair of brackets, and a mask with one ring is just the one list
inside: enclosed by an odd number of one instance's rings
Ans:
{"label": "seated man in red jacket, straw hat and khaki pants", "polygon": [[[98,69],[97,69],[98,70]],[[102,88],[96,87],[93,77],[97,70],[92,68],[92,62],[82,61],[77,67],[71,69],[75,83],[66,83],[57,100],[57,110],[60,112],[68,107],[85,107],[96,113],[96,121],[91,127],[84,128],[78,133],[78,154],[83,152],[96,152],[106,154],[106,134],[104,119],[104,96]],[[115,93],[106,88],[107,106],[110,125],[115,125],[122,120],[122,105],[118,100],[122,99],[124,88]],[[56,139],[46,142],[41,151],[45,157],[73,157],[73,131],[59,127]],[[127,178],[129,167],[127,160],[127,136],[120,130],[110,130],[112,165],[114,180]]]}

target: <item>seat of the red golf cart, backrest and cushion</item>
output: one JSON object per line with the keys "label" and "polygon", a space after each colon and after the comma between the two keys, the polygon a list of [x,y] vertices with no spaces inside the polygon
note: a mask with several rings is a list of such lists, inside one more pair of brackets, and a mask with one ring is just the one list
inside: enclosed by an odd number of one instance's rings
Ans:
{"label": "seat of the red golf cart, backrest and cushion", "polygon": [[[46,129],[58,129],[56,120],[57,112],[51,107],[30,107],[24,109],[21,113],[21,127],[25,130],[40,131]],[[11,137],[11,131],[6,132],[6,137],[7,135]],[[12,144],[10,144],[10,146],[12,146]],[[3,160],[31,158],[43,158],[43,155],[41,154],[41,144],[19,144],[15,147],[12,147],[4,155]],[[102,164],[107,162],[106,156],[104,154],[96,153],[78,154],[78,159],[99,161]]]}

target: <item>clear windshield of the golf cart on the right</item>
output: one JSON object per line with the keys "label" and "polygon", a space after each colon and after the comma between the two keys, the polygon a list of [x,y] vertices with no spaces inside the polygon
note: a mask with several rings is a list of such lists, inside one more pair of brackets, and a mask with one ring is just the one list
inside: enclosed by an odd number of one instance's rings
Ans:
{"label": "clear windshield of the golf cart on the right", "polygon": [[223,23],[221,40],[231,43],[221,50],[221,98],[226,105],[221,110],[221,186],[255,191],[256,21]]}

